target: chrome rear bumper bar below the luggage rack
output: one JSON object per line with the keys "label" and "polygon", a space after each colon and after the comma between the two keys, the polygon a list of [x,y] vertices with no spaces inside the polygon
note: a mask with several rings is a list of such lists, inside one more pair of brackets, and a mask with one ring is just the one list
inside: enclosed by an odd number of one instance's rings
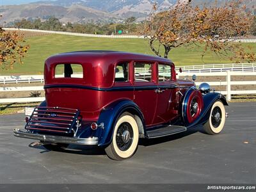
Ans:
{"label": "chrome rear bumper bar below the luggage rack", "polygon": [[49,143],[68,143],[76,145],[98,145],[98,138],[70,138],[63,136],[52,136],[47,134],[33,134],[19,129],[13,130],[13,135],[18,138],[27,138],[31,140],[40,140]]}

